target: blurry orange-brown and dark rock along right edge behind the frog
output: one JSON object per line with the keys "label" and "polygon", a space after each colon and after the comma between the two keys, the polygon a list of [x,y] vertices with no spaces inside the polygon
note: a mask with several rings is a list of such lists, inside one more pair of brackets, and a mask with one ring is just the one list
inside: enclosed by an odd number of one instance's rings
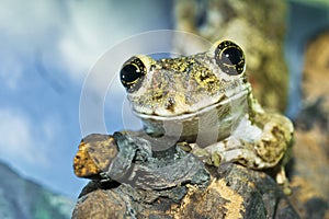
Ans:
{"label": "blurry orange-brown and dark rock along right edge behind the frog", "polygon": [[329,32],[305,53],[303,110],[295,120],[293,206],[302,218],[329,218]]}

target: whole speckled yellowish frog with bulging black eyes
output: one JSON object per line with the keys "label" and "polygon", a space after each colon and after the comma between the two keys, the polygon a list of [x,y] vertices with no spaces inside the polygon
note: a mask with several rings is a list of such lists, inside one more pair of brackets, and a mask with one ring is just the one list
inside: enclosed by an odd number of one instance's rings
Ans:
{"label": "whole speckled yellowish frog with bulging black eyes", "polygon": [[190,56],[135,55],[123,64],[120,80],[150,138],[175,136],[186,151],[213,166],[235,162],[275,169],[277,184],[285,184],[294,127],[258,103],[246,62],[242,48],[223,39]]}

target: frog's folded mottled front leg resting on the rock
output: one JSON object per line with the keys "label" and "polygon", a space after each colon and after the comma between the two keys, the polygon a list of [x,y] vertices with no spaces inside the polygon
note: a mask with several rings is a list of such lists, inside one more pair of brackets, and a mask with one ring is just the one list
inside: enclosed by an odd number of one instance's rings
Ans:
{"label": "frog's folded mottled front leg resting on the rock", "polygon": [[[292,138],[293,125],[286,117],[258,114],[252,123],[246,116],[232,135],[224,140],[206,148],[198,148],[195,143],[192,153],[215,166],[237,162],[256,170],[281,169],[288,158]],[[277,172],[276,182],[286,183],[283,168]]]}

